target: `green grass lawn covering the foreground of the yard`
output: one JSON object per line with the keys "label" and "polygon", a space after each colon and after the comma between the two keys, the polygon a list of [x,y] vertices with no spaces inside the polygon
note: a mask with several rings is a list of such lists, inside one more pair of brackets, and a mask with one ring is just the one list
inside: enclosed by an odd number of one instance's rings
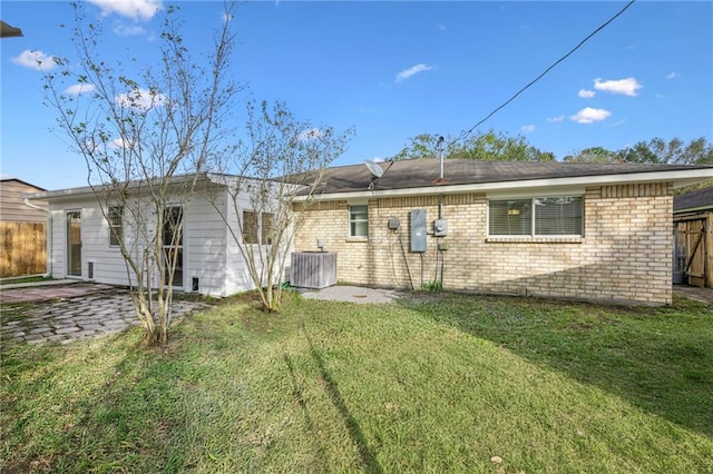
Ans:
{"label": "green grass lawn covering the foreground of the yard", "polygon": [[3,348],[0,471],[713,472],[703,304],[234,299],[172,335]]}

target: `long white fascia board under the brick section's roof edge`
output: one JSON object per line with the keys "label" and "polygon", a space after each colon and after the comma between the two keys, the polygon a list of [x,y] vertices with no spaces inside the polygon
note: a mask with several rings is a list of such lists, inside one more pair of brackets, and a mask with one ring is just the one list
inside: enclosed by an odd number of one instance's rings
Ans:
{"label": "long white fascia board under the brick section's roof edge", "polygon": [[[673,181],[675,187],[685,186],[713,178],[713,168],[707,169],[678,169],[671,171],[653,171],[653,172],[627,172],[621,175],[597,175],[597,176],[578,176],[572,178],[546,178],[546,179],[528,179],[517,181],[497,181],[497,182],[477,182],[468,185],[451,186],[423,186],[419,188],[402,189],[373,189],[351,192],[332,192],[323,195],[314,195],[312,198],[316,200],[344,200],[344,199],[375,199],[390,197],[408,197],[423,195],[452,195],[463,192],[486,192],[488,195],[497,191],[502,194],[525,192],[528,194],[559,194],[567,192],[567,188],[573,190],[582,190],[590,186],[614,186],[614,185],[639,185],[646,182],[667,182]],[[511,196],[511,195],[510,195]],[[307,197],[297,196],[296,201],[307,200]]]}

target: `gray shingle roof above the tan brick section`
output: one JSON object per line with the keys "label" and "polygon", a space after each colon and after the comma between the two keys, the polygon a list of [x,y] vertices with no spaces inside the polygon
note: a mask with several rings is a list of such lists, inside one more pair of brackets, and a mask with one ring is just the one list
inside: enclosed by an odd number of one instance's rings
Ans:
{"label": "gray shingle roof above the tan brick section", "polygon": [[[661,172],[695,170],[713,167],[684,165],[642,164],[587,164],[563,161],[484,161],[471,159],[443,160],[443,177],[440,177],[440,160],[419,158],[379,164],[385,171],[375,179],[374,190],[430,187],[434,185],[472,185],[487,182],[522,181],[534,179],[577,178],[635,172]],[[338,194],[364,191],[372,180],[363,164],[328,168],[320,191]]]}

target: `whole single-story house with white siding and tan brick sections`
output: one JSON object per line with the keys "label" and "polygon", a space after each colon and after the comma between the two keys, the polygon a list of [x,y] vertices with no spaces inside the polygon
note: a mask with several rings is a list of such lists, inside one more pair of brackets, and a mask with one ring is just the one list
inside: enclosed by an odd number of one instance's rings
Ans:
{"label": "whole single-story house with white siding and tan brick sections", "polygon": [[[672,189],[713,177],[703,166],[438,159],[382,169],[326,169],[304,210],[294,250],[335,254],[339,282],[644,304],[672,300]],[[214,192],[227,206],[219,186]],[[111,244],[110,226],[121,223],[107,221],[90,188],[32,198],[49,201],[52,276],[127,284]],[[213,205],[197,196],[174,206],[185,219],[178,288],[251,289]],[[254,225],[244,228],[264,235],[270,219],[247,206],[241,218]]]}

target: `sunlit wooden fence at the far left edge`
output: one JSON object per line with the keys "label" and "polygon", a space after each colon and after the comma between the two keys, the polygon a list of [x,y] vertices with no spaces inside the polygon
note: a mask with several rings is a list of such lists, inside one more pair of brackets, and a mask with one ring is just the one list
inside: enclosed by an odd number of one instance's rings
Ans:
{"label": "sunlit wooden fence at the far left edge", "polygon": [[45,223],[0,223],[0,278],[47,271]]}

